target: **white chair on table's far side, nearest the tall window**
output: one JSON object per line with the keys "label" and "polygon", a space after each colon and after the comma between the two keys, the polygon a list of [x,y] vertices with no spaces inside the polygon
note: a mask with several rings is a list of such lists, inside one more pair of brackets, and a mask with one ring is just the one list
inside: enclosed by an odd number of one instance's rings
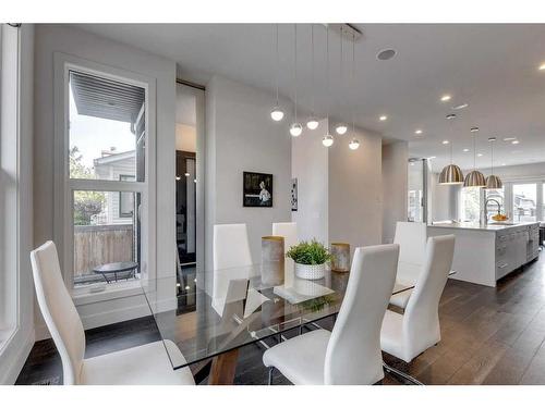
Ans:
{"label": "white chair on table's far side, nearest the tall window", "polygon": [[222,316],[226,302],[242,300],[246,296],[245,289],[229,290],[231,281],[252,277],[252,255],[250,252],[246,224],[214,225],[213,251],[211,306],[219,316]]}

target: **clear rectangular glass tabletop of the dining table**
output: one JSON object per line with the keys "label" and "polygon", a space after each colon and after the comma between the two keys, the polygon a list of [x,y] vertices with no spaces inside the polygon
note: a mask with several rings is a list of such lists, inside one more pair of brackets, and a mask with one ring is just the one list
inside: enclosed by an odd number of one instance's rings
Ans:
{"label": "clear rectangular glass tabletop of the dining table", "polygon": [[[179,369],[336,314],[349,276],[327,270],[320,280],[303,280],[286,262],[276,271],[267,264],[189,269],[143,280],[142,289]],[[392,295],[412,287],[396,283]]]}

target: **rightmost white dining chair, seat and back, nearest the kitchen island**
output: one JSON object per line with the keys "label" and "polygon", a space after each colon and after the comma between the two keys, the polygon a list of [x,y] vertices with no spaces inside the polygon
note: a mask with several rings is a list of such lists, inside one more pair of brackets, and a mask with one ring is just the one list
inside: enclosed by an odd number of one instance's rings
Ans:
{"label": "rightmost white dining chair, seat and back, nearest the kitchen island", "polygon": [[447,283],[455,236],[427,239],[426,259],[403,314],[387,310],[380,331],[384,351],[410,362],[440,341],[439,299]]}

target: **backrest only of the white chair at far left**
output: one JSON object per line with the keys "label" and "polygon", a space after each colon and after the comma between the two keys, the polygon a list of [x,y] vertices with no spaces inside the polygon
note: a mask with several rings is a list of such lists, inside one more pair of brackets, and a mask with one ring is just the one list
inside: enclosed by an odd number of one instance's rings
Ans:
{"label": "backrest only of the white chair at far left", "polygon": [[62,280],[57,248],[51,240],[31,252],[38,305],[61,356],[64,384],[77,384],[85,354],[80,314]]}

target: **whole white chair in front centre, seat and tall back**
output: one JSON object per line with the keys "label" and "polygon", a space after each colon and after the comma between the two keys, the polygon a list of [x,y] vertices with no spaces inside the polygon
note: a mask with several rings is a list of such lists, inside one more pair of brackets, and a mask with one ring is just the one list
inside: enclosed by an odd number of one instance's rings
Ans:
{"label": "whole white chair in front centre, seat and tall back", "polygon": [[384,378],[380,324],[396,282],[399,246],[356,248],[332,332],[315,330],[263,355],[293,384],[374,384]]}

